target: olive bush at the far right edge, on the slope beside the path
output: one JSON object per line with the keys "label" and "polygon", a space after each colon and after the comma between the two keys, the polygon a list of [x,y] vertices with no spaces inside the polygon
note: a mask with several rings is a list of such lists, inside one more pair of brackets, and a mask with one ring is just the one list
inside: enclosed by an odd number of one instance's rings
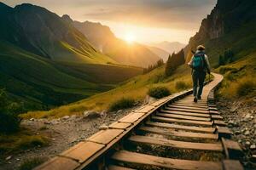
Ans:
{"label": "olive bush at the far right edge, on the slope beside the path", "polygon": [[246,82],[241,82],[238,84],[236,94],[242,97],[253,93],[255,90],[256,83],[251,80],[247,80]]}

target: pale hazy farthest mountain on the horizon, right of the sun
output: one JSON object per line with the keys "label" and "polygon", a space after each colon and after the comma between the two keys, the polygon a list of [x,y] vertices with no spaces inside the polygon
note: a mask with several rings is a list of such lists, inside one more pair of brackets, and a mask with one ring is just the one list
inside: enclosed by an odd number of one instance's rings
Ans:
{"label": "pale hazy farthest mountain on the horizon, right of the sun", "polygon": [[180,42],[160,42],[160,43],[154,43],[152,46],[156,48],[160,48],[168,52],[169,54],[177,53],[182,48],[184,48],[186,45]]}

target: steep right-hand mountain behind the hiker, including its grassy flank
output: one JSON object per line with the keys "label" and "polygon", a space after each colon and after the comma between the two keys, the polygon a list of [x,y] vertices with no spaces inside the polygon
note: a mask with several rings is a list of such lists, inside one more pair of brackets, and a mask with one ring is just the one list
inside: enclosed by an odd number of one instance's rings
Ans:
{"label": "steep right-hand mountain behind the hiker, including its grassy flank", "polygon": [[205,44],[213,66],[218,66],[218,56],[231,49],[236,59],[246,57],[256,49],[256,2],[249,0],[218,0],[215,8],[202,20],[200,30],[191,37],[187,51]]}

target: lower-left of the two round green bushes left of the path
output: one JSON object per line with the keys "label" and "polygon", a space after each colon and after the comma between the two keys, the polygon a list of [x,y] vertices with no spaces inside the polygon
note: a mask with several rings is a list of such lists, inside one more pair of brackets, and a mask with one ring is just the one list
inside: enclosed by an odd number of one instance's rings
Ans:
{"label": "lower-left of the two round green bushes left of the path", "polygon": [[109,106],[109,111],[119,111],[121,109],[131,108],[135,105],[135,100],[130,98],[123,98],[113,102]]}

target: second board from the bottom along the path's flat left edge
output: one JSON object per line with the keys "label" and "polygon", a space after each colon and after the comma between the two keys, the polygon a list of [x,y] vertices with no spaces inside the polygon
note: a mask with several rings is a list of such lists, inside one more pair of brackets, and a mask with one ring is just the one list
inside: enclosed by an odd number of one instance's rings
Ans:
{"label": "second board from the bottom along the path's flat left edge", "polygon": [[99,150],[102,150],[104,146],[104,144],[96,144],[93,142],[80,142],[69,150],[61,153],[61,156],[70,157],[82,163],[88,160],[90,156],[95,155]]}

